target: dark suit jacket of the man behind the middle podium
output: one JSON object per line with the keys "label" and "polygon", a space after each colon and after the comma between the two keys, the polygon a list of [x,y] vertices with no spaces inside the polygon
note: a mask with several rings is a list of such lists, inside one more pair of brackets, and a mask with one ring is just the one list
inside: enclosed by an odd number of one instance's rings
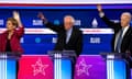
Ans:
{"label": "dark suit jacket of the man behind the middle podium", "polygon": [[58,38],[54,50],[75,50],[77,56],[80,55],[82,49],[82,33],[79,29],[73,26],[70,38],[68,43],[66,43],[66,31],[64,25],[54,25],[50,22],[45,25],[57,33]]}

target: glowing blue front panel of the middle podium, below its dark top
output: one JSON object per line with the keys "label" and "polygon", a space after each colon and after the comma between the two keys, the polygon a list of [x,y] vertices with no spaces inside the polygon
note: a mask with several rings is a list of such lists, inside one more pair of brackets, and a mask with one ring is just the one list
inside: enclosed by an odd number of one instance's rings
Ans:
{"label": "glowing blue front panel of the middle podium, below its dark top", "polygon": [[72,61],[57,58],[54,60],[54,79],[72,79]]}

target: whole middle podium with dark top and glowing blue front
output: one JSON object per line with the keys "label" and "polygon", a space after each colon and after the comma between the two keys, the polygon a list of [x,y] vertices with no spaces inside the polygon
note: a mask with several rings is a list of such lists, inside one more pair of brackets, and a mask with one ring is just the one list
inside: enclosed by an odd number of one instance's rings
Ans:
{"label": "whole middle podium with dark top and glowing blue front", "polygon": [[51,50],[50,57],[54,61],[54,79],[72,79],[72,63],[76,58],[74,50]]}

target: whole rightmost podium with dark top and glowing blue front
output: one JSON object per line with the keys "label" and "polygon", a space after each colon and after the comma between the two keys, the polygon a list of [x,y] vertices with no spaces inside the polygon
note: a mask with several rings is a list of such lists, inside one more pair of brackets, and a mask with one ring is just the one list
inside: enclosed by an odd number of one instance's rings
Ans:
{"label": "whole rightmost podium with dark top and glowing blue front", "polygon": [[129,60],[127,53],[101,53],[107,64],[107,79],[130,79]]}

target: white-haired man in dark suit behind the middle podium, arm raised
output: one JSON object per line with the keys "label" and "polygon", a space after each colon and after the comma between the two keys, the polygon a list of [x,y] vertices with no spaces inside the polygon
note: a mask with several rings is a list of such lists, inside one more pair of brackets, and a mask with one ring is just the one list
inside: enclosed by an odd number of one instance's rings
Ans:
{"label": "white-haired man in dark suit behind the middle podium, arm raised", "polygon": [[[74,26],[75,19],[72,15],[64,16],[63,25],[50,23],[42,13],[38,14],[38,18],[43,20],[46,27],[57,33],[58,38],[54,48],[55,50],[75,50],[77,56],[80,55],[82,49],[82,33]],[[74,66],[75,64],[73,65],[73,70]]]}

